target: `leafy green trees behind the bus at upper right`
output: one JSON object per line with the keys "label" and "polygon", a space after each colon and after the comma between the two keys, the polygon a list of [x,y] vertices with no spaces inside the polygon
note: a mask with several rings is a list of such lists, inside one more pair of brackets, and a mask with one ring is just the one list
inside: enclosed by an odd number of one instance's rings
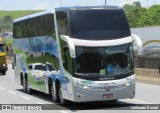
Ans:
{"label": "leafy green trees behind the bus at upper right", "polygon": [[123,6],[130,27],[159,26],[160,5],[153,5],[149,8],[142,7],[139,1]]}

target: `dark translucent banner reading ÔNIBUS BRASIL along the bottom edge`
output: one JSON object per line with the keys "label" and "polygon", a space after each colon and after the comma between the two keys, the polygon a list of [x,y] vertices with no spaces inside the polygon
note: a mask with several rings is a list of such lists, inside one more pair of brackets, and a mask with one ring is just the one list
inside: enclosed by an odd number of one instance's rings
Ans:
{"label": "dark translucent banner reading \u00d4NIBUS BRASIL along the bottom edge", "polygon": [[160,104],[0,104],[2,111],[41,111],[41,110],[160,110]]}

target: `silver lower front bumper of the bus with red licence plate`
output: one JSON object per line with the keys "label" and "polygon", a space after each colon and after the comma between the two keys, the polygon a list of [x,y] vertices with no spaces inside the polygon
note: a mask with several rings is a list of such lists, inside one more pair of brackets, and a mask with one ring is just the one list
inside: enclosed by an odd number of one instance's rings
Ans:
{"label": "silver lower front bumper of the bus with red licence plate", "polygon": [[75,102],[118,100],[125,98],[134,98],[135,84],[132,84],[129,87],[124,86],[117,89],[106,89],[106,91],[89,91],[81,88],[76,88],[75,91]]}

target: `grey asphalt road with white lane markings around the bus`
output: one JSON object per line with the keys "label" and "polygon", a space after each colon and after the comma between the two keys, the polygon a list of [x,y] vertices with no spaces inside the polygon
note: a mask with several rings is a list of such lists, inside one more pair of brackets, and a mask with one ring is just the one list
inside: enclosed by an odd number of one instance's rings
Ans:
{"label": "grey asphalt road with white lane markings around the bus", "polygon": [[[61,106],[53,103],[49,95],[35,91],[32,95],[25,94],[22,86],[15,82],[14,70],[9,64],[9,69],[6,75],[0,75],[0,104],[33,104],[40,105],[42,108],[46,108],[45,112],[55,113],[106,113],[106,112],[159,112],[160,110],[135,110],[134,107],[144,105],[160,104],[160,86],[147,85],[147,84],[136,84],[136,97],[134,99],[121,99],[117,103],[111,102],[91,102],[91,103],[70,103],[67,106]],[[48,105],[50,104],[50,105]],[[156,106],[156,105],[155,105]],[[134,110],[131,110],[133,108]],[[160,105],[158,106],[160,109]],[[52,109],[49,110],[49,109]],[[127,109],[127,110],[126,110]],[[120,111],[121,110],[121,111]],[[123,111],[122,111],[123,110]],[[0,110],[0,113],[4,110]],[[10,112],[22,112],[21,110],[13,110]],[[32,111],[33,112],[33,111]],[[34,111],[39,113],[39,110]],[[44,112],[44,111],[42,111]]]}

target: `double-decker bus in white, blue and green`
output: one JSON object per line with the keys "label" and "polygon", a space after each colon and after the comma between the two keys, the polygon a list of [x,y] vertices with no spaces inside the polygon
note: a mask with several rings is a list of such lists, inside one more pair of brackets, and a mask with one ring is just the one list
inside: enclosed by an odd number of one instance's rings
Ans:
{"label": "double-decker bus in white, blue and green", "polygon": [[15,77],[25,92],[61,104],[134,98],[133,37],[123,9],[56,8],[14,20],[13,35]]}

